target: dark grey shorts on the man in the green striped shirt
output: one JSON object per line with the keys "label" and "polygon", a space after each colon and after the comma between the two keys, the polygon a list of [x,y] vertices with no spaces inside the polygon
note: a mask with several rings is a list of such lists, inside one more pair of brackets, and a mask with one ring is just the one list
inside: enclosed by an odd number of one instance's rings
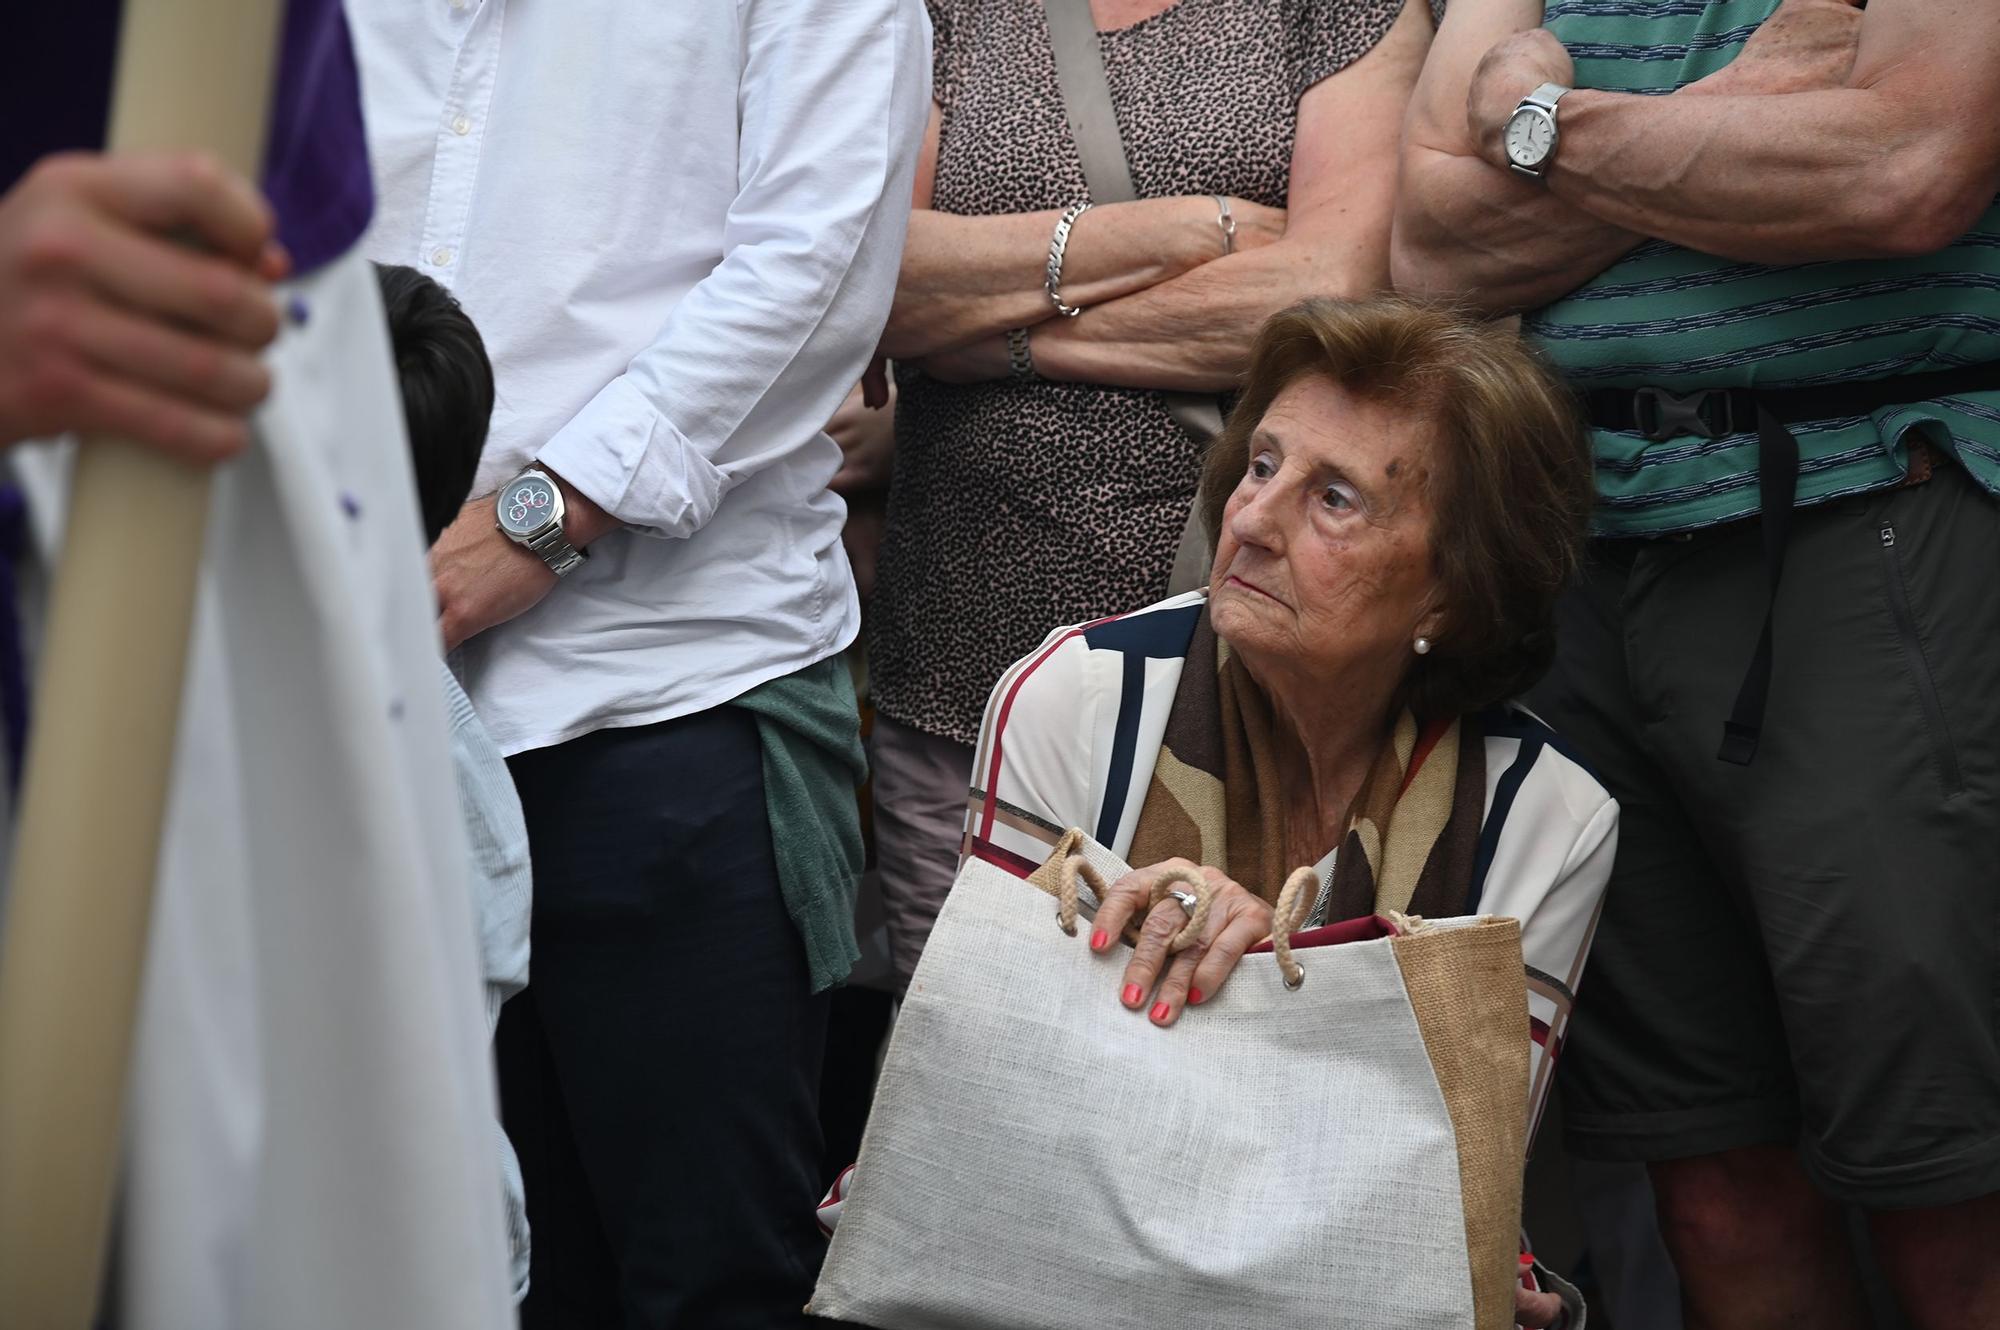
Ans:
{"label": "dark grey shorts on the man in the green striped shirt", "polygon": [[1592,548],[1530,704],[1622,804],[1570,1148],[1796,1142],[1834,1198],[2000,1192],[2000,502],[1958,466],[1794,514],[1752,766],[1754,520]]}

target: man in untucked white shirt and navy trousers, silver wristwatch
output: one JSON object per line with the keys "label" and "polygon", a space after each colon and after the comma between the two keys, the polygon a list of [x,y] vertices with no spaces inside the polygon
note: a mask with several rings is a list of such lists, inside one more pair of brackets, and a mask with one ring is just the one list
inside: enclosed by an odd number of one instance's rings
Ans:
{"label": "man in untucked white shirt and navy trousers, silver wristwatch", "polygon": [[822,424],[894,296],[922,4],[348,10],[368,252],[450,286],[498,382],[432,568],[536,864],[524,1324],[802,1324],[830,978],[726,704],[856,632]]}

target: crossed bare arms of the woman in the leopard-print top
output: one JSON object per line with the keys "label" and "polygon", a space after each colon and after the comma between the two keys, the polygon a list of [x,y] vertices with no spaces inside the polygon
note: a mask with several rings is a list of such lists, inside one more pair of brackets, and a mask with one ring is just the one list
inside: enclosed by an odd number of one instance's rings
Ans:
{"label": "crossed bare arms of the woman in the leopard-print top", "polygon": [[[1004,332],[1032,328],[1044,378],[1188,392],[1234,386],[1268,314],[1306,296],[1362,296],[1388,284],[1394,144],[1428,42],[1426,6],[1412,4],[1374,50],[1306,92],[1286,208],[1238,204],[1250,220],[1236,254],[1222,256],[1208,198],[1086,214],[1064,262],[1064,298],[1090,306],[1082,318],[1050,318],[1042,292],[1056,212],[930,212],[932,132],[884,350],[922,360],[936,378],[978,382],[1006,374]],[[940,308],[954,298],[960,312]]]}

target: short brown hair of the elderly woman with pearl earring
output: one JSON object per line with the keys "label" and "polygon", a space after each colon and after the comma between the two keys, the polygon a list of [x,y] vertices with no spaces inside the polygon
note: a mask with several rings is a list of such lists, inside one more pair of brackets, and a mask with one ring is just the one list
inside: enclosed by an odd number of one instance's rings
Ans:
{"label": "short brown hair of the elderly woman with pearl earring", "polygon": [[1196,500],[1210,554],[1272,400],[1308,374],[1436,422],[1432,560],[1444,624],[1412,656],[1410,706],[1458,716],[1524,692],[1556,654],[1556,594],[1570,580],[1594,496],[1576,400],[1512,330],[1384,296],[1308,300],[1274,314],[1250,352],[1228,428]]}

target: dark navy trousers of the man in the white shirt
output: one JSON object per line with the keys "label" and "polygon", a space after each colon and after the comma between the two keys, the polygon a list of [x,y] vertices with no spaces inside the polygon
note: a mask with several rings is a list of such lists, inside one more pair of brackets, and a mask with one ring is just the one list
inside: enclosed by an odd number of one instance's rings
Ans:
{"label": "dark navy trousers of the man in the white shirt", "polygon": [[510,760],[534,854],[500,1104],[534,1230],[526,1330],[808,1324],[820,1056],[746,712]]}

